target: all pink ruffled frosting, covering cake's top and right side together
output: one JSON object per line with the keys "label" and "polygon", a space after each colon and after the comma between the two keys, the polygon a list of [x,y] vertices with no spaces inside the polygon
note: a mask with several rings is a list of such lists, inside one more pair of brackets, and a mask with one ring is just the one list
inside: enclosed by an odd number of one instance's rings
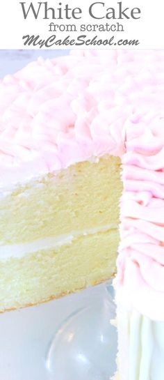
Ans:
{"label": "all pink ruffled frosting, covering cake's top and right side together", "polygon": [[122,158],[117,298],[164,319],[164,51],[38,59],[0,84],[0,188]]}

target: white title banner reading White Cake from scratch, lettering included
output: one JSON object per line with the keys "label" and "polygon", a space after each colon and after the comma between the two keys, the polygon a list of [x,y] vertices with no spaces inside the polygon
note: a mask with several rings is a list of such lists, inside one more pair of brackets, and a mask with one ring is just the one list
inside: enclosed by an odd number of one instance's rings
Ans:
{"label": "white title banner reading White Cake from scratch, lettering included", "polygon": [[5,0],[0,49],[163,49],[163,17],[163,0]]}

